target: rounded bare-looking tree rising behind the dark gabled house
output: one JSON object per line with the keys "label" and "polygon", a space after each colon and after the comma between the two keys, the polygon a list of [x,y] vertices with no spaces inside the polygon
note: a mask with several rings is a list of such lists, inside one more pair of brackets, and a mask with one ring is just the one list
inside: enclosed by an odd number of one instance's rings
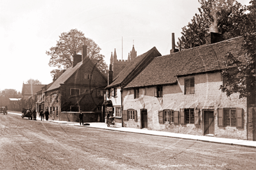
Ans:
{"label": "rounded bare-looking tree rising behind the dark gabled house", "polygon": [[[92,62],[97,63],[102,73],[107,73],[107,65],[104,61],[105,56],[99,54],[101,48],[90,38],[85,38],[84,34],[77,29],[61,33],[56,46],[46,51],[51,56],[49,66],[56,66],[58,69],[67,69],[73,65],[73,55],[81,51],[83,43],[87,45],[87,56]],[[53,76],[56,70],[51,71]]]}

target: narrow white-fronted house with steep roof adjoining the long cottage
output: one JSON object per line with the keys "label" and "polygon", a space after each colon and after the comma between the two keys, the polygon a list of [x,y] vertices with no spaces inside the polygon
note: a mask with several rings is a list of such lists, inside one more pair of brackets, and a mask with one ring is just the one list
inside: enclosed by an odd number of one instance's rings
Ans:
{"label": "narrow white-fronted house with steep roof adjoining the long cottage", "polygon": [[130,61],[130,63],[123,68],[123,70],[113,79],[112,65],[110,65],[110,70],[108,72],[108,86],[106,100],[103,103],[103,114],[107,116],[109,112],[110,115],[115,116],[115,123],[117,126],[122,127],[122,115],[121,115],[121,105],[122,101],[122,91],[124,86],[126,86],[130,81],[132,81],[139,73],[146,68],[146,66],[157,56],[161,56],[156,47],[148,50],[144,54],[137,56]]}

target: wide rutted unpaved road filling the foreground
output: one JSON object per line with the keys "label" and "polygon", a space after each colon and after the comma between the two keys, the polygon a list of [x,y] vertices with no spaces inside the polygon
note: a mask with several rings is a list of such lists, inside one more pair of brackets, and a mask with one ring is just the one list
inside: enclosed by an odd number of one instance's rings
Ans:
{"label": "wide rutted unpaved road filling the foreground", "polygon": [[0,169],[254,169],[256,148],[0,115]]}

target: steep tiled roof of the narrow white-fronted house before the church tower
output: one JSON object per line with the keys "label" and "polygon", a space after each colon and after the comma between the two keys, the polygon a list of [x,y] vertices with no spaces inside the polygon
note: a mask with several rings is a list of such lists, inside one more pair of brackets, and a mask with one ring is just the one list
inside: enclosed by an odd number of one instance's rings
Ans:
{"label": "steep tiled roof of the narrow white-fronted house before the church tower", "polygon": [[111,84],[109,84],[107,88],[119,86],[129,76],[133,76],[133,73],[139,70],[138,68],[140,68],[140,66],[143,65],[144,61],[150,60],[149,56],[151,56],[151,54],[154,55],[153,58],[161,56],[160,52],[158,52],[156,47],[153,47],[152,49],[148,50],[148,52],[145,52],[144,54],[137,56],[115,77],[114,81]]}

